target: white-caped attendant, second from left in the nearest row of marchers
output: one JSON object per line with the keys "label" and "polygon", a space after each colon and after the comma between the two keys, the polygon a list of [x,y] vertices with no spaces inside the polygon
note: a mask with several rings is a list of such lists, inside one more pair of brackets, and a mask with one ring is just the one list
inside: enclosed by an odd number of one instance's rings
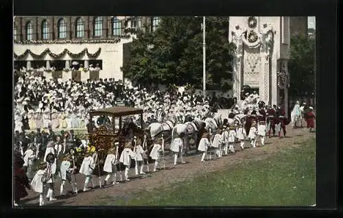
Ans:
{"label": "white-caped attendant, second from left in the nearest row of marchers", "polygon": [[54,175],[56,173],[56,156],[54,153],[49,153],[45,157],[47,162],[47,184],[49,184],[49,189],[47,190],[47,199],[49,202],[55,201],[54,197]]}

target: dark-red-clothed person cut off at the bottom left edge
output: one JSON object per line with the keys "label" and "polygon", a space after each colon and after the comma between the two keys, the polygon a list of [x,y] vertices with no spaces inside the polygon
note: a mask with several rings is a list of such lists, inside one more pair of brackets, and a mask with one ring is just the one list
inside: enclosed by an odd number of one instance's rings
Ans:
{"label": "dark-red-clothed person cut off at the bottom left edge", "polygon": [[25,187],[31,189],[23,164],[24,160],[16,156],[14,159],[14,206],[19,206],[20,199],[28,195]]}

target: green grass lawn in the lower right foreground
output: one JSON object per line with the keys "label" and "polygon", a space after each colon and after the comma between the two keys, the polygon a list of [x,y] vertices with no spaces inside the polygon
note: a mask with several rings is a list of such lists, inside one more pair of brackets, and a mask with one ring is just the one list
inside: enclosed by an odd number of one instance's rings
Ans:
{"label": "green grass lawn in the lower right foreground", "polygon": [[[272,146],[272,145],[271,145]],[[309,206],[316,203],[316,139],[150,193],[98,199],[113,206]],[[170,179],[170,178],[167,178]],[[95,202],[94,202],[95,203]]]}

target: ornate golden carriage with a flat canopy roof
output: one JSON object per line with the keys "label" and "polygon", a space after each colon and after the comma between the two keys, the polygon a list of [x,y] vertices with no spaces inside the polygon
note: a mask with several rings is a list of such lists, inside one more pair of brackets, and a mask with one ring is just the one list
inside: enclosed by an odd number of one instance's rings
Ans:
{"label": "ornate golden carriage with a flat canopy roof", "polygon": [[[123,123],[123,117],[139,114],[141,117],[141,128],[132,123]],[[143,138],[143,110],[140,108],[130,108],[126,106],[115,106],[113,108],[104,108],[99,110],[93,110],[89,112],[91,120],[95,116],[111,117],[112,121],[107,125],[101,125],[99,128],[91,125],[88,128],[88,141],[95,147],[95,153],[93,154],[95,160],[95,169],[93,173],[97,176],[104,175],[103,167],[104,161],[108,154],[108,149],[115,147],[115,141],[119,143],[117,147],[118,158],[123,151],[124,144],[127,141],[132,140],[132,137],[128,138],[127,132],[124,130],[131,130],[132,136],[137,138]],[[124,127],[125,125],[125,127]],[[119,171],[120,171],[120,165]]]}

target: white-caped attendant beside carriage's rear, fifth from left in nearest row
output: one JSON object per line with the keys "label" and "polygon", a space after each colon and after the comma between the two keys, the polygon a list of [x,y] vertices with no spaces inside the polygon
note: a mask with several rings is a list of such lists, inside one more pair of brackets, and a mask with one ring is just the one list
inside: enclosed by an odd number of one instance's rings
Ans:
{"label": "white-caped attendant beside carriage's rear, fifth from left in nearest row", "polygon": [[104,171],[108,173],[106,175],[104,186],[108,184],[108,180],[110,179],[110,175],[112,174],[112,184],[119,184],[116,182],[117,179],[117,163],[118,163],[118,148],[119,145],[115,145],[108,150],[108,154],[106,156],[105,164],[104,164]]}

